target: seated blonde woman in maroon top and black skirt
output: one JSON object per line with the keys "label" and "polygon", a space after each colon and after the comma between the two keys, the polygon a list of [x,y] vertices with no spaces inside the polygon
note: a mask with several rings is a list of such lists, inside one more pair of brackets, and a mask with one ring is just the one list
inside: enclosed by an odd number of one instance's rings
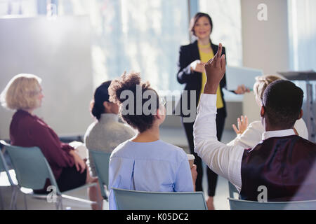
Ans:
{"label": "seated blonde woman in maroon top and black skirt", "polygon": [[[86,163],[74,148],[60,142],[51,127],[34,115],[34,110],[41,106],[44,97],[40,83],[41,79],[37,76],[20,74],[14,76],[1,93],[2,105],[7,109],[16,110],[10,125],[11,144],[39,147],[51,166],[61,192],[83,186],[85,183],[98,183],[98,179],[92,178],[86,172]],[[37,189],[35,192],[47,193],[46,188],[49,185],[49,181],[46,181],[44,189]],[[100,188],[91,187],[89,197],[95,202],[102,200]],[[92,208],[102,209],[97,204],[93,204]]]}

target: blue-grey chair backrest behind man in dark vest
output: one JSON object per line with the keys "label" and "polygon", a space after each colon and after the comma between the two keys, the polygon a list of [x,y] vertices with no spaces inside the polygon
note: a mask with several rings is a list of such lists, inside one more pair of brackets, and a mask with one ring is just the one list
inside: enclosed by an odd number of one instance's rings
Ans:
{"label": "blue-grey chair backrest behind man in dark vest", "polygon": [[316,200],[301,202],[251,202],[228,198],[230,210],[315,210]]}

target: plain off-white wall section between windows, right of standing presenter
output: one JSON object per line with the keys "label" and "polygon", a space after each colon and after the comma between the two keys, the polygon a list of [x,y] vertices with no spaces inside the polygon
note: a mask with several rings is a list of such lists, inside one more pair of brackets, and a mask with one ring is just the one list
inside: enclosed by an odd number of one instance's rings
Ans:
{"label": "plain off-white wall section between windows, right of standing presenter", "polygon": [[[289,31],[287,0],[241,0],[244,66],[261,69],[265,74],[288,71]],[[259,21],[258,5],[268,8],[268,20]],[[249,120],[259,120],[259,109],[251,95],[244,97],[243,112]]]}

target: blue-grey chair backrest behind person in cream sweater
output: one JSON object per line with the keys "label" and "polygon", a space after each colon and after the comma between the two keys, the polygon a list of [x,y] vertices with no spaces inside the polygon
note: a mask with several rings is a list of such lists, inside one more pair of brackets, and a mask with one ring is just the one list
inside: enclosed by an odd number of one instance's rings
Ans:
{"label": "blue-grey chair backrest behind person in cream sweater", "polygon": [[[96,174],[98,175],[100,186],[107,186],[109,189],[109,162],[111,153],[103,153],[100,151],[92,151],[91,153],[94,166],[96,167]],[[101,188],[103,198],[107,198],[104,188]]]}

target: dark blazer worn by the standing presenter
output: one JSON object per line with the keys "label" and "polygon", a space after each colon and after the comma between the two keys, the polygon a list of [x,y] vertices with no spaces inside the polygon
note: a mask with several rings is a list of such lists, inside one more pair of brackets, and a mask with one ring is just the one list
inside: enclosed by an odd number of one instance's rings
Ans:
{"label": "dark blazer worn by the standing presenter", "polygon": [[[213,49],[214,55],[216,54],[218,50],[218,45],[215,45],[211,43],[211,48]],[[222,55],[225,54],[225,48],[223,47]],[[226,54],[225,54],[226,56]],[[191,71],[190,64],[194,62],[195,60],[201,59],[199,57],[199,48],[197,47],[197,41],[189,44],[189,45],[183,45],[180,47],[179,50],[179,61],[178,61],[178,73],[177,73],[177,80],[180,84],[185,84],[184,90],[187,90],[189,92],[187,96],[188,100],[188,108],[190,109],[191,106],[195,106],[197,108],[198,100],[199,100],[199,94],[201,93],[202,89],[202,73]],[[224,74],[224,77],[222,80],[220,80],[220,92],[222,94],[223,98],[223,104],[224,104],[224,111],[225,111],[225,117],[227,116],[226,112],[226,105],[224,101],[224,94],[223,94],[223,88],[226,87],[226,76]],[[195,90],[196,93],[196,105],[190,105],[190,91]],[[180,106],[180,116],[185,117],[182,112],[182,98],[181,96],[180,102],[178,102],[178,105]]]}

